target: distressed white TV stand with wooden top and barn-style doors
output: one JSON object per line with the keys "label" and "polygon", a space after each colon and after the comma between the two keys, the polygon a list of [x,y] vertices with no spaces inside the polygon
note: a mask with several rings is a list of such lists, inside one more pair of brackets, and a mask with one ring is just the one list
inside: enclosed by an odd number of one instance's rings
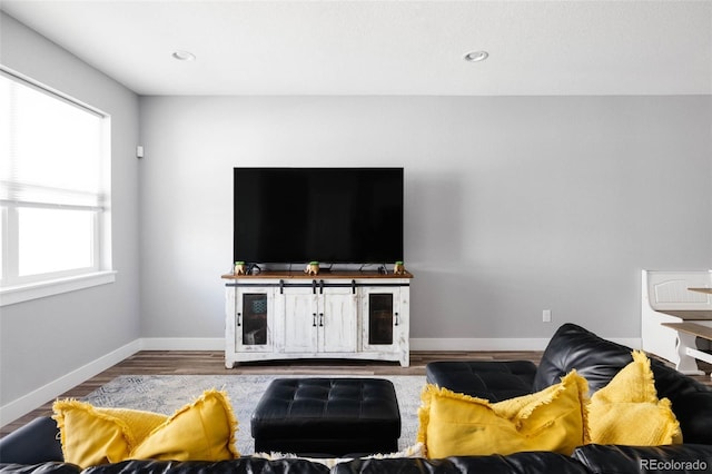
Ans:
{"label": "distressed white TV stand with wooden top and barn-style doors", "polygon": [[412,278],[323,269],[222,275],[225,365],[320,357],[407,367]]}

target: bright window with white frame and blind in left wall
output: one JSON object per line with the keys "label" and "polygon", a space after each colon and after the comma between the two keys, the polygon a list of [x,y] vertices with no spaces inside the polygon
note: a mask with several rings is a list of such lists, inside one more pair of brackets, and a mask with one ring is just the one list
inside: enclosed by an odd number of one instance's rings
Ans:
{"label": "bright window with white frame and blind in left wall", "polygon": [[0,72],[0,304],[112,280],[109,117]]}

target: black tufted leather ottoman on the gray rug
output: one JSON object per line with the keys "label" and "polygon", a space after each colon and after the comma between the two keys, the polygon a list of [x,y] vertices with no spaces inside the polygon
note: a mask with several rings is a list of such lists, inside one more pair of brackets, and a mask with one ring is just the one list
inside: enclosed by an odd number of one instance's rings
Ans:
{"label": "black tufted leather ottoman on the gray rug", "polygon": [[389,381],[277,378],[251,419],[255,452],[298,454],[398,451],[400,412]]}

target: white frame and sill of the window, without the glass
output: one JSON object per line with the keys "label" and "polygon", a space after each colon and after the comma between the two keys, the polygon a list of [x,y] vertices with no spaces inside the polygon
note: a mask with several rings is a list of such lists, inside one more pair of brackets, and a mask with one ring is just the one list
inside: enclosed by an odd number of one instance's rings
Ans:
{"label": "white frame and sill of the window, without the glass", "polygon": [[[113,283],[116,271],[111,267],[111,211],[110,211],[110,169],[111,169],[111,117],[85,102],[69,97],[56,89],[34,81],[27,76],[10,70],[0,65],[0,73],[4,77],[29,86],[36,90],[71,103],[101,117],[101,134],[103,150],[102,162],[102,188],[103,203],[100,206],[66,206],[59,204],[44,203],[22,203],[2,201],[0,206],[0,219],[2,243],[2,277],[0,279],[0,307],[13,305],[31,299],[43,298],[51,295],[59,295],[78,289],[89,288],[98,285]],[[93,213],[93,236],[92,236],[92,266],[86,268],[75,268],[71,270],[52,271],[39,275],[18,275],[18,209],[20,208],[43,208],[43,209],[67,209],[67,210],[89,210]]]}

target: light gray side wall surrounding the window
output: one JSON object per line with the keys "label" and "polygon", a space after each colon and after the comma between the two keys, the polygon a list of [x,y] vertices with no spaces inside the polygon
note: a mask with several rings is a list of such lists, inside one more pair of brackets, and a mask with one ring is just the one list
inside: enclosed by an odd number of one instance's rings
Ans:
{"label": "light gray side wall surrounding the window", "polygon": [[0,406],[140,337],[138,97],[0,13],[0,62],[111,115],[116,283],[0,308]]}

